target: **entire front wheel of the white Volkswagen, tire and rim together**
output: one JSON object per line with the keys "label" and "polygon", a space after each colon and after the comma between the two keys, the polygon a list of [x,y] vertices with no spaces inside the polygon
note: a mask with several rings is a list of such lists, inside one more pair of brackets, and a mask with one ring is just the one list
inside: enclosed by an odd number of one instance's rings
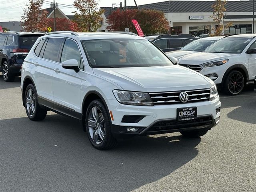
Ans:
{"label": "entire front wheel of the white Volkswagen, tire and rim together", "polygon": [[[93,113],[97,113],[96,118]],[[85,118],[86,132],[92,146],[99,150],[111,149],[116,146],[117,141],[111,132],[110,116],[101,100],[93,100],[89,104]]]}

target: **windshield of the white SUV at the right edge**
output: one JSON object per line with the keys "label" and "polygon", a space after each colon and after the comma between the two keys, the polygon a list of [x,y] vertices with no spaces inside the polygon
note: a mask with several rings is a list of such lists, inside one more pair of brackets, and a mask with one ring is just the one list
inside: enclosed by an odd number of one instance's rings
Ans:
{"label": "windshield of the white SUV at the right edge", "polygon": [[218,40],[204,52],[211,53],[241,53],[252,38],[228,37]]}

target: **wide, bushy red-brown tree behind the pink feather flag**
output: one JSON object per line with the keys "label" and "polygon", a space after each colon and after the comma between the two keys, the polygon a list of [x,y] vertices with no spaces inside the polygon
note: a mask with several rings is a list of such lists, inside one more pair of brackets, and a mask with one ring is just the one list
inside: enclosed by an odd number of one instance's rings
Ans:
{"label": "wide, bushy red-brown tree behind the pink feather flag", "polygon": [[107,18],[110,25],[108,30],[124,31],[129,28],[130,32],[137,33],[132,20],[135,19],[140,24],[144,34],[166,33],[169,30],[169,22],[164,13],[158,10],[137,10],[130,9],[120,12],[116,10]]}

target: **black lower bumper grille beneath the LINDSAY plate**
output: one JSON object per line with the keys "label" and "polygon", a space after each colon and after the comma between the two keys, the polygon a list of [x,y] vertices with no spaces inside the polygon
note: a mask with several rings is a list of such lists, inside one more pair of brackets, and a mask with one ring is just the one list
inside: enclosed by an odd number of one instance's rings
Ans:
{"label": "black lower bumper grille beneath the LINDSAY plate", "polygon": [[213,120],[211,116],[198,117],[193,120],[184,120],[184,121],[165,120],[165,121],[156,122],[148,130],[146,130],[145,133],[192,128],[192,127],[199,127],[199,126],[208,127],[212,124],[213,124]]}

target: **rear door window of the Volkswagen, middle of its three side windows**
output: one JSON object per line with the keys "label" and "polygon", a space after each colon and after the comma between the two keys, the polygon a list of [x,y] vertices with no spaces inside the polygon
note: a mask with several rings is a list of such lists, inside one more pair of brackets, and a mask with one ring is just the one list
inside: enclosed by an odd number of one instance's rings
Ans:
{"label": "rear door window of the Volkswagen, middle of its three side windows", "polygon": [[62,38],[49,38],[43,58],[58,62],[58,53],[60,52],[62,41]]}

